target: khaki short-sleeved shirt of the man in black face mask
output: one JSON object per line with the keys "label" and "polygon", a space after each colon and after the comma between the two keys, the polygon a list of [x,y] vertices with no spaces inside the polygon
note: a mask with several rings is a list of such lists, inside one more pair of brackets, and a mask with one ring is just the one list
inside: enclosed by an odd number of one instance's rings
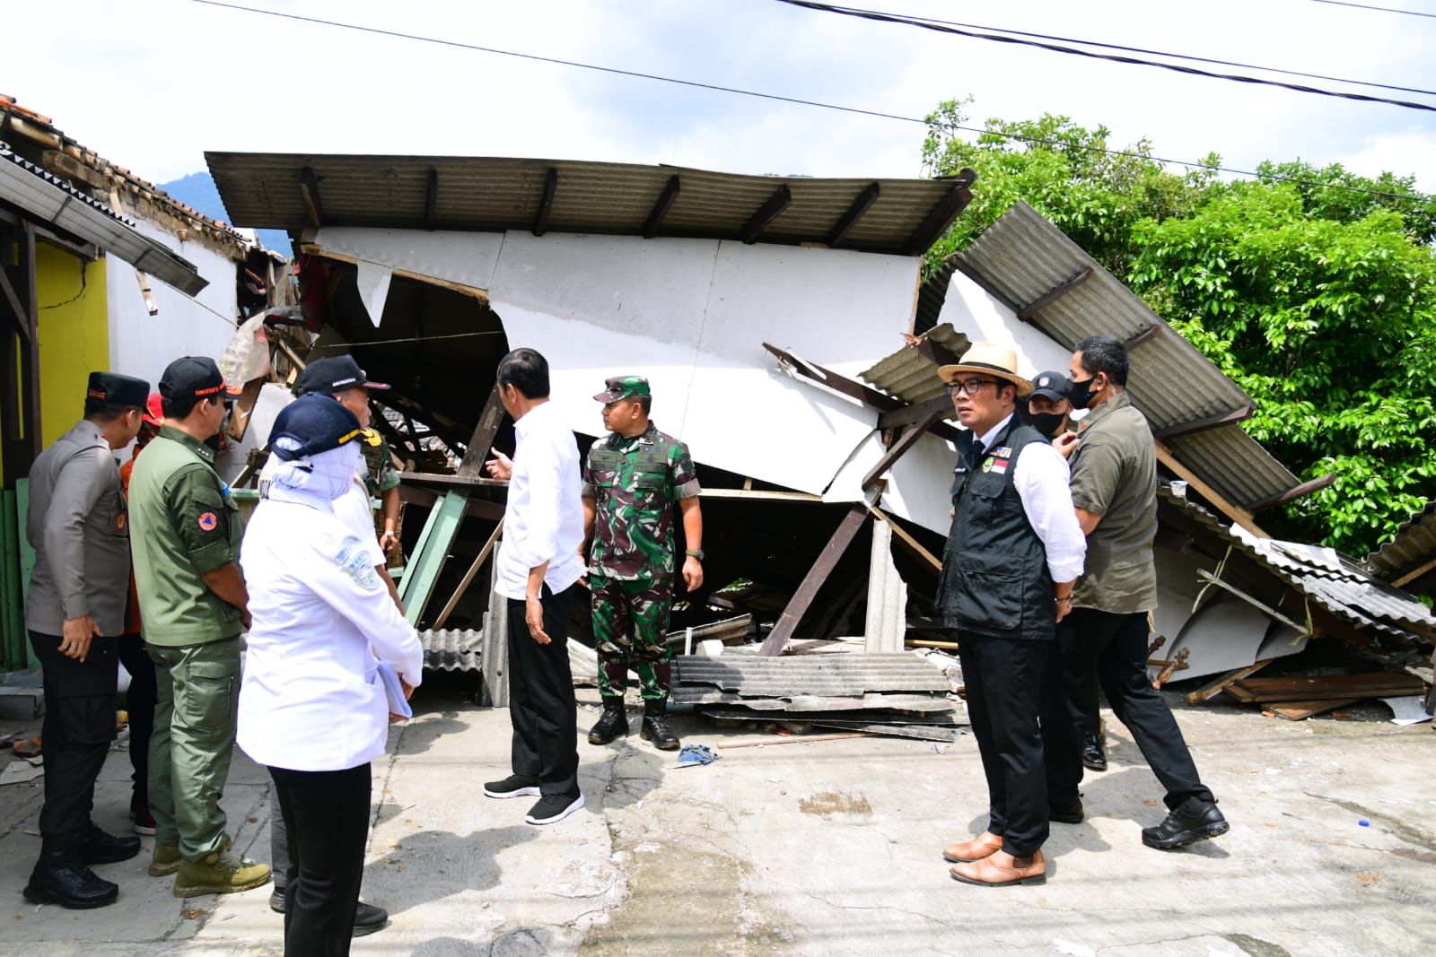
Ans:
{"label": "khaki short-sleeved shirt of the man in black face mask", "polygon": [[1157,453],[1147,419],[1126,392],[1097,406],[1071,456],[1073,505],[1101,521],[1087,537],[1087,570],[1073,605],[1116,614],[1157,607]]}

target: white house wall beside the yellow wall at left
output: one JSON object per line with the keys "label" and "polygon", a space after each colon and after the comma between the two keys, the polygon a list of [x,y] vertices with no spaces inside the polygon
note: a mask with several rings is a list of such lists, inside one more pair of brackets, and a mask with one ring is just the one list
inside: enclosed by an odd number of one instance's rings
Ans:
{"label": "white house wall beside the yellow wall at left", "polygon": [[[134,214],[126,215],[135,220]],[[194,263],[200,275],[210,280],[197,297],[190,298],[151,277],[148,281],[159,307],[159,313],[151,316],[135,278],[135,267],[115,255],[106,257],[109,367],[139,376],[155,389],[165,366],[180,356],[210,356],[218,362],[224,353],[238,316],[234,291],[237,264],[208,245],[181,241],[152,222],[136,220],[136,224],[142,234]]]}

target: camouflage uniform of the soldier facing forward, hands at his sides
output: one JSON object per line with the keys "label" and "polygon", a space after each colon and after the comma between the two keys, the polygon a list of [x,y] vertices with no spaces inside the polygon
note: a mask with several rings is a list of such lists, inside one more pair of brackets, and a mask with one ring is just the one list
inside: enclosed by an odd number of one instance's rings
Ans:
{"label": "camouflage uniform of the soldier facing forward, hands at his sides", "polygon": [[629,666],[643,700],[668,697],[673,505],[698,492],[688,446],[652,423],[640,436],[615,432],[589,449],[583,496],[596,504],[589,590],[605,697],[623,697]]}

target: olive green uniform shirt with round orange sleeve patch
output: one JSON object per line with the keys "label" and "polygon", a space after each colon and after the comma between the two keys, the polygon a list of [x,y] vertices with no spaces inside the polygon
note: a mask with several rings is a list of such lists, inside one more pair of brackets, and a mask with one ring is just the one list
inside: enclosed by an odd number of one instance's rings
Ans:
{"label": "olive green uniform shirt with round orange sleeve patch", "polygon": [[240,610],[204,584],[238,561],[238,506],[202,442],[162,426],[129,478],[129,538],[145,641],[204,644],[233,638]]}

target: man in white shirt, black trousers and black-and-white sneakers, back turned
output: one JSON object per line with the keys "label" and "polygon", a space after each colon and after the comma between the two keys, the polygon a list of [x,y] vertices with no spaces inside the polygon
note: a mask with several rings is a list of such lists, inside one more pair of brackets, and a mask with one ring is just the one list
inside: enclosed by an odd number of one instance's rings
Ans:
{"label": "man in white shirt, black trousers and black-and-white sneakers, back turned", "polygon": [[524,819],[554,824],[583,806],[569,670],[569,605],[583,575],[579,445],[549,403],[549,363],[536,350],[500,360],[498,393],[517,435],[513,461],[495,452],[487,462],[490,475],[508,479],[495,591],[508,600],[514,773],[484,793],[537,796]]}

